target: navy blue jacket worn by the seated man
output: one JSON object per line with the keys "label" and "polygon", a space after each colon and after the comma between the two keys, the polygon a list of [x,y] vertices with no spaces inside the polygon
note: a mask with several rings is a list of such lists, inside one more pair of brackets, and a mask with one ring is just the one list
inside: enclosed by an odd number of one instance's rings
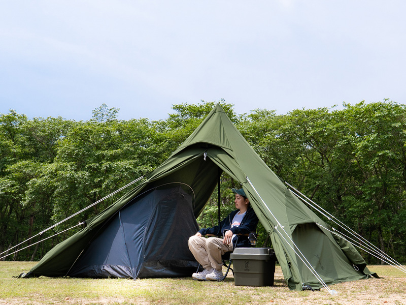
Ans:
{"label": "navy blue jacket worn by the seated man", "polygon": [[[226,218],[222,220],[220,226],[215,226],[213,228],[207,229],[200,229],[199,233],[201,235],[214,234],[216,236],[224,236],[224,232],[227,230],[231,230],[233,234],[248,234],[250,232],[255,232],[257,230],[258,217],[255,215],[254,209],[252,207],[248,207],[248,210],[243,220],[241,221],[240,226],[231,228],[232,219],[234,218],[234,215],[237,214],[239,211],[240,210],[232,211]],[[233,242],[235,241],[233,240]],[[234,248],[250,247],[250,241],[248,240],[248,236],[239,236],[237,245],[233,246]]]}

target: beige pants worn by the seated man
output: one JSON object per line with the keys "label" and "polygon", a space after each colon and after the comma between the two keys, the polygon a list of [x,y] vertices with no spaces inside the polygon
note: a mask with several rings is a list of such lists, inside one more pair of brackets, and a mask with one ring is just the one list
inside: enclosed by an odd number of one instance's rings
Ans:
{"label": "beige pants worn by the seated man", "polygon": [[224,245],[222,238],[189,237],[189,249],[197,262],[205,269],[214,268],[221,271],[223,263],[221,256],[232,251],[232,243]]}

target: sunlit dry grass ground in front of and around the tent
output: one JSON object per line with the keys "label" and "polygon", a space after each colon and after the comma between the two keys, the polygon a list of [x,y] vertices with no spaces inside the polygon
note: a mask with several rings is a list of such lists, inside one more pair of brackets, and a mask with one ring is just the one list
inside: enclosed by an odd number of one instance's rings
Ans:
{"label": "sunlit dry grass ground in front of and around the tent", "polygon": [[16,279],[35,262],[0,262],[0,305],[3,304],[404,304],[406,274],[390,266],[369,266],[383,279],[329,286],[320,291],[290,291],[277,266],[272,287],[235,286],[225,282],[174,279]]}

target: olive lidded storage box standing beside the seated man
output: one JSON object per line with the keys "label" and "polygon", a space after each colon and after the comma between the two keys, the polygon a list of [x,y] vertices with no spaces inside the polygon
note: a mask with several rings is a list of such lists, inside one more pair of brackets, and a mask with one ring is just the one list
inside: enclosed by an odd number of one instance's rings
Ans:
{"label": "olive lidded storage box standing beside the seated man", "polygon": [[235,248],[230,254],[234,285],[273,286],[275,252],[270,248]]}

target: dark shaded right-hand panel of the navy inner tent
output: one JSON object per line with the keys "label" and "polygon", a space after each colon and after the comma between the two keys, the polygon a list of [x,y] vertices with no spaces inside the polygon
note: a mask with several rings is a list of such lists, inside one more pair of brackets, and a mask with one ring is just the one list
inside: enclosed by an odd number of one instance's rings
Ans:
{"label": "dark shaded right-hand panel of the navy inner tent", "polygon": [[188,239],[198,231],[192,196],[174,191],[159,197],[144,231],[144,263],[137,277],[152,278],[158,272],[161,277],[190,275],[197,264]]}

